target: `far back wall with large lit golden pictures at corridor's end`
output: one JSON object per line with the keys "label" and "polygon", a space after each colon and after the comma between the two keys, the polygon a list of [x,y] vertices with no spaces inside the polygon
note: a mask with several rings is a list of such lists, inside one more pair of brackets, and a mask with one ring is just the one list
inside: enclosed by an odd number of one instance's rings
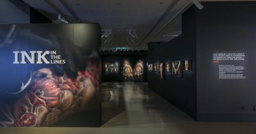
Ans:
{"label": "far back wall with large lit golden pictures at corridor's end", "polygon": [[147,81],[147,62],[147,55],[145,54],[130,52],[129,55],[102,55],[102,81]]}

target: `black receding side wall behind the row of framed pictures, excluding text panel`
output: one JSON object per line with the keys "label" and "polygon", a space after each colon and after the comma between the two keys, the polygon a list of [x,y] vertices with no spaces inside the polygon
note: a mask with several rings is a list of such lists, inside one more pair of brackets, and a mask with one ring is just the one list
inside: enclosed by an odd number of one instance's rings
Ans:
{"label": "black receding side wall behind the row of framed pictures, excluding text panel", "polygon": [[[182,16],[182,35],[170,42],[152,42],[148,45],[148,64],[169,63],[172,61],[192,61],[192,71],[182,71],[181,77],[172,76],[171,71],[148,72],[148,86],[154,92],[173,103],[176,107],[196,119],[196,8],[190,8]],[[180,66],[179,69],[183,70]]]}

